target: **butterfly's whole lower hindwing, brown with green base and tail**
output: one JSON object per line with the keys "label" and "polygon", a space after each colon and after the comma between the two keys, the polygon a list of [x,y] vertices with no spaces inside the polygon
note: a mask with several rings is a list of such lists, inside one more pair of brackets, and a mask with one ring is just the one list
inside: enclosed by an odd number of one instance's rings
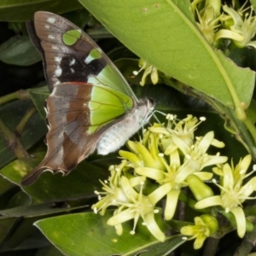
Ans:
{"label": "butterfly's whole lower hindwing, brown with green base and tail", "polygon": [[108,123],[117,124],[126,106],[132,104],[126,102],[124,105],[125,98],[120,98],[120,95],[110,88],[86,83],[55,85],[46,101],[49,125],[47,154],[24,177],[22,184],[33,183],[45,170],[67,175],[81,160],[92,154],[102,135],[111,129]]}

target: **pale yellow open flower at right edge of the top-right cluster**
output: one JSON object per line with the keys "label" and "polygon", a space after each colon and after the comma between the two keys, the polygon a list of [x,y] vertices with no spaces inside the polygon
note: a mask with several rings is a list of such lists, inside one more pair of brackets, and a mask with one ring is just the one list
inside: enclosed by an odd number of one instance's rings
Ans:
{"label": "pale yellow open flower at right edge of the top-right cluster", "polygon": [[237,47],[253,46],[256,48],[256,41],[251,41],[256,33],[256,16],[253,15],[253,9],[250,13],[243,14],[243,7],[236,11],[227,5],[223,6],[224,12],[228,14],[221,18],[226,29],[220,29],[215,34],[215,41],[219,38],[230,38]]}

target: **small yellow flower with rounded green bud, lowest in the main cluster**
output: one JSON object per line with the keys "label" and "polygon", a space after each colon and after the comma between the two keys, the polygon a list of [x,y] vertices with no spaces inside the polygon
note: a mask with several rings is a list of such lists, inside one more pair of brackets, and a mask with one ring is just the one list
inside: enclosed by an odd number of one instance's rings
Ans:
{"label": "small yellow flower with rounded green bud, lowest in the main cluster", "polygon": [[207,237],[212,236],[218,230],[218,221],[209,214],[195,217],[194,220],[195,225],[184,226],[180,232],[185,236],[192,236],[188,240],[195,239],[194,248],[196,250],[202,247]]}

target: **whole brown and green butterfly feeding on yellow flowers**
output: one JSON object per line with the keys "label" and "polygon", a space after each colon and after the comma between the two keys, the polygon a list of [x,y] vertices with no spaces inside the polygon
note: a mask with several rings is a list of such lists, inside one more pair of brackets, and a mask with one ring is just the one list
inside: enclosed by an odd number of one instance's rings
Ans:
{"label": "whole brown and green butterfly feeding on yellow flowers", "polygon": [[154,102],[137,99],[102,49],[69,20],[38,11],[26,26],[43,57],[50,95],[47,153],[22,185],[34,183],[44,171],[67,175],[95,150],[117,150],[154,110]]}

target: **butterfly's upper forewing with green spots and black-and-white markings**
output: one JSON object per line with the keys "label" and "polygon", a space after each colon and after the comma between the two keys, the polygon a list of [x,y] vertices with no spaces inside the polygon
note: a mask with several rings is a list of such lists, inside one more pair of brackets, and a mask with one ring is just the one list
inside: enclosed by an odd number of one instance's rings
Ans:
{"label": "butterfly's upper forewing with green spots and black-and-white markings", "polygon": [[50,91],[55,84],[63,82],[103,84],[137,101],[129,84],[108,56],[78,26],[48,12],[37,12],[34,18],[34,25],[29,22],[28,29],[33,34],[35,46],[44,55]]}

